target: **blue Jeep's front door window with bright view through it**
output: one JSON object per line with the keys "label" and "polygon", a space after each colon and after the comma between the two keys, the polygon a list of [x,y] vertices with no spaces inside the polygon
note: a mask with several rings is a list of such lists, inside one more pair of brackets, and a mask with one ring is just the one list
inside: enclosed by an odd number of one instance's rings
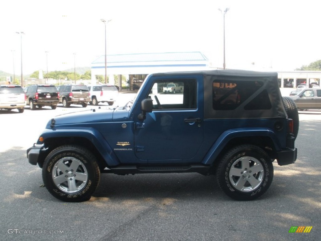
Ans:
{"label": "blue Jeep's front door window with bright view through it", "polygon": [[154,83],[147,98],[154,110],[196,109],[195,79],[166,79]]}

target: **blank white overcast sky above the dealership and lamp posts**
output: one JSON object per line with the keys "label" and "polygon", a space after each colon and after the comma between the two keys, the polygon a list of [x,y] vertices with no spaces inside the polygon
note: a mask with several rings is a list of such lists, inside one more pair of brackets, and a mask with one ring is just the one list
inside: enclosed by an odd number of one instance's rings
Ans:
{"label": "blank white overcast sky above the dealership and lamp posts", "polygon": [[[11,0],[0,3],[0,70],[90,67],[107,54],[201,51],[226,67],[293,70],[321,59],[321,3],[314,0]],[[14,52],[12,51],[14,50]],[[251,65],[255,63],[255,65]]]}

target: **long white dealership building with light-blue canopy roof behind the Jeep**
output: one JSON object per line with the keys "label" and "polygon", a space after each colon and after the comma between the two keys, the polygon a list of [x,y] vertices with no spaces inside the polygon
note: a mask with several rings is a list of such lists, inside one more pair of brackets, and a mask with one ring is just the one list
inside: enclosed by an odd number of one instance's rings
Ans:
{"label": "long white dealership building with light-blue canopy roof behind the Jeep", "polygon": [[[139,88],[145,77],[151,73],[219,69],[212,67],[208,58],[201,52],[107,55],[106,63],[109,83],[114,84],[114,75],[117,75],[118,79],[121,79],[121,75],[126,75],[131,90]],[[281,88],[296,88],[299,84],[320,84],[321,71],[276,72]],[[91,81],[96,83],[98,75],[105,75],[105,55],[91,63]]]}

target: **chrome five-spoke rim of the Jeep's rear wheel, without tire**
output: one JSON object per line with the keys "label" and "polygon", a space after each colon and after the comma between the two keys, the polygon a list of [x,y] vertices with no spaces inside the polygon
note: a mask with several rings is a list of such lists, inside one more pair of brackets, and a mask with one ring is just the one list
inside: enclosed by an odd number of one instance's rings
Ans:
{"label": "chrome five-spoke rim of the Jeep's rear wheel, without tire", "polygon": [[231,166],[229,178],[231,184],[239,191],[251,192],[263,182],[264,167],[254,157],[244,156]]}

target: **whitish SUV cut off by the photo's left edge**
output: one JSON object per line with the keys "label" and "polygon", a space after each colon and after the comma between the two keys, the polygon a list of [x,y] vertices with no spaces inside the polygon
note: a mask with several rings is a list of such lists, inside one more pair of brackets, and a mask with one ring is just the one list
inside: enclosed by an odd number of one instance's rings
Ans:
{"label": "whitish SUV cut off by the photo's left edge", "polygon": [[0,85],[0,109],[24,111],[26,94],[20,85]]}

